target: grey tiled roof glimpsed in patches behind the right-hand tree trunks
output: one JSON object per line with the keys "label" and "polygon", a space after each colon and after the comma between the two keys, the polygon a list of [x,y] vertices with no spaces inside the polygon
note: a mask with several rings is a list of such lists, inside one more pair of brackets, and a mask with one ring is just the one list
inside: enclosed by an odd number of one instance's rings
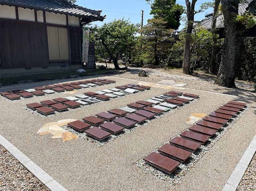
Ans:
{"label": "grey tiled roof glimpsed in patches behind the right-hand tree trunks", "polygon": [[[239,4],[239,15],[242,15],[246,12],[246,8],[248,7],[249,3],[242,3]],[[212,27],[212,16],[203,19],[197,27],[204,27],[205,29],[211,29]],[[224,17],[223,15],[219,15],[216,20],[216,28],[224,28]]]}

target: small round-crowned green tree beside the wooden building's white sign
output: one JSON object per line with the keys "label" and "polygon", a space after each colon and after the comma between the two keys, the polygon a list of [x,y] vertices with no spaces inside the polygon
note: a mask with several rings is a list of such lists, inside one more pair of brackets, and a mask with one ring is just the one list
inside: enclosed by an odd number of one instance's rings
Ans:
{"label": "small round-crowned green tree beside the wooden building's white sign", "polygon": [[100,41],[109,57],[113,59],[115,69],[120,69],[118,60],[126,48],[130,48],[135,40],[138,26],[130,21],[119,19],[105,23],[101,28],[91,28],[95,41]]}

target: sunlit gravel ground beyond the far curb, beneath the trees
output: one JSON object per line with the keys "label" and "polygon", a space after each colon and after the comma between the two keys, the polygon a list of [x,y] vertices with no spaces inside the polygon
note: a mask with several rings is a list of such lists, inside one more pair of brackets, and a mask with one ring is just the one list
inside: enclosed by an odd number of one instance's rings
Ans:
{"label": "sunlit gravel ground beyond the far curb, beneath the trees", "polygon": [[[149,77],[139,77],[138,73],[141,70],[145,70],[149,74]],[[182,71],[179,69],[164,70],[150,68],[129,68],[128,72],[114,76],[152,83],[157,83],[161,80],[174,80],[175,82],[186,83],[187,85],[183,88],[224,93],[239,97],[245,97],[245,99],[256,99],[256,93],[253,92],[253,83],[246,81],[236,81],[236,86],[238,88],[225,88],[214,84],[216,76],[205,74],[203,72],[197,72],[194,74],[194,76],[192,76],[183,74]]]}

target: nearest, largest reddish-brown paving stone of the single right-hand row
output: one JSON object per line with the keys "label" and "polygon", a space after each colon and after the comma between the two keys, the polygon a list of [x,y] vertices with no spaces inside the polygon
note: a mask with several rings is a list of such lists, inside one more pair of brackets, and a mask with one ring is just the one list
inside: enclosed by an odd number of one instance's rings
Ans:
{"label": "nearest, largest reddish-brown paving stone of the single right-hand row", "polygon": [[152,152],[143,160],[146,163],[154,166],[157,169],[160,169],[161,171],[164,171],[169,175],[171,175],[171,173],[175,171],[180,165],[180,162],[170,159],[169,157],[166,157],[156,152]]}

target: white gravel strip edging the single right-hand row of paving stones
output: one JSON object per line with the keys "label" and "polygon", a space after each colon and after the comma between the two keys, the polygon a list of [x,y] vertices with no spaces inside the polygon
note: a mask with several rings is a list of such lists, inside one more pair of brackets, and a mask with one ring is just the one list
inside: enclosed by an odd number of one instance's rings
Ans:
{"label": "white gravel strip edging the single right-hand row of paving stones", "polygon": [[[175,170],[171,175],[168,175],[153,166],[147,164],[144,162],[143,158],[136,162],[136,165],[141,168],[145,173],[151,173],[154,176],[166,180],[170,182],[172,185],[177,184],[187,173],[188,171],[211,149],[211,147],[214,146],[214,144],[222,138],[222,136],[230,129],[232,126],[239,120],[239,118],[244,115],[250,107],[245,108],[244,111],[240,112],[240,114],[233,118],[232,121],[227,122],[225,126],[222,127],[222,129],[217,132],[215,135],[213,135],[209,140],[205,143],[205,145],[202,145],[195,153],[192,153],[190,158],[185,162],[181,163],[177,170]],[[174,136],[175,137],[175,136]],[[173,138],[173,137],[172,137]],[[171,139],[170,139],[171,140]],[[165,145],[166,143],[170,143],[169,141],[163,143],[160,147]],[[154,151],[157,152],[157,147]]]}

